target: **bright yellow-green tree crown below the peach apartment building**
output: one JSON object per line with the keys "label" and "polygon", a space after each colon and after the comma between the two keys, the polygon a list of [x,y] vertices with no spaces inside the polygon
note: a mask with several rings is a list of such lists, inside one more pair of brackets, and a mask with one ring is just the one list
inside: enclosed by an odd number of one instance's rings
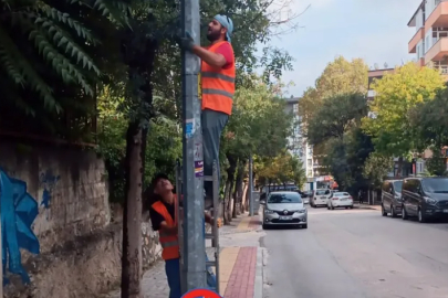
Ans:
{"label": "bright yellow-green tree crown below the peach apartment building", "polygon": [[363,129],[373,137],[375,150],[386,156],[406,156],[419,147],[413,110],[431,100],[444,88],[436,70],[408,63],[374,82],[376,97],[371,105],[375,117],[363,119]]}

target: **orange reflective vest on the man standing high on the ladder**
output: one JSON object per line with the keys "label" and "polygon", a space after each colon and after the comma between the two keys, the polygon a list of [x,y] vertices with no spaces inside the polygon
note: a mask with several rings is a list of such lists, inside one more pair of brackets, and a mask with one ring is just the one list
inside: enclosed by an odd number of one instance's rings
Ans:
{"label": "orange reflective vest on the man standing high on the ladder", "polygon": [[[216,50],[227,41],[217,42],[208,50]],[[233,50],[232,50],[233,54]],[[212,109],[231,115],[235,94],[235,62],[230,68],[219,68],[202,61],[200,67],[202,109]]]}

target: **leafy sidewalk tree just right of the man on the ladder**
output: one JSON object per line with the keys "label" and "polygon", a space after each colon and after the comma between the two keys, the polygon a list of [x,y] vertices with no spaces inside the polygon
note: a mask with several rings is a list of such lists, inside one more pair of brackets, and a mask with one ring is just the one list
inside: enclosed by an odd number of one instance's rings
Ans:
{"label": "leafy sidewalk tree just right of the man on the ladder", "polygon": [[[274,157],[286,146],[292,117],[284,114],[284,100],[275,98],[277,89],[277,85],[267,85],[260,77],[249,76],[236,92],[233,114],[221,142],[221,151],[227,157],[227,164],[223,167],[227,172],[226,223],[231,217],[231,194],[233,193],[233,205],[241,201],[241,177],[249,156]],[[233,188],[237,191],[232,192]]]}

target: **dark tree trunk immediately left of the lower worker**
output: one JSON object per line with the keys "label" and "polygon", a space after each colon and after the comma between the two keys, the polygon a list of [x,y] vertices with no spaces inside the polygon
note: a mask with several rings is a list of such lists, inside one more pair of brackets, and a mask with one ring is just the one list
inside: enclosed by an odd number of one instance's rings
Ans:
{"label": "dark tree trunk immediately left of the lower worker", "polygon": [[142,279],[142,129],[126,135],[126,187],[123,214],[122,298],[143,298]]}

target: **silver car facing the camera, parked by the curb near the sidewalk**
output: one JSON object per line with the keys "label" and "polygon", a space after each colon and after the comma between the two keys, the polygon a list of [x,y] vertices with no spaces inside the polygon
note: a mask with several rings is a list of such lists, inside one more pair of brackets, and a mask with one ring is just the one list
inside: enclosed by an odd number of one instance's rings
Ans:
{"label": "silver car facing the camera, parked by the curb near the sidewalk", "polygon": [[261,203],[263,205],[263,228],[274,225],[296,225],[308,228],[308,211],[298,192],[271,192]]}

